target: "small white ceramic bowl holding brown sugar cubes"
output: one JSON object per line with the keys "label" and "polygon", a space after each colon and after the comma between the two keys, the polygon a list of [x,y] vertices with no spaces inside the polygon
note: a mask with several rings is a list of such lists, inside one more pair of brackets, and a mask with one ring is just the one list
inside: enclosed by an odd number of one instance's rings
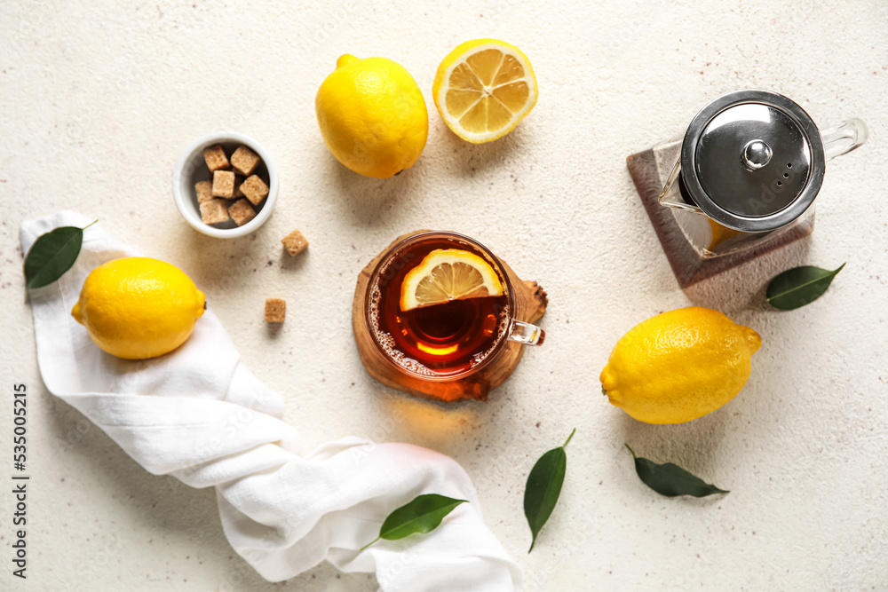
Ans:
{"label": "small white ceramic bowl holding brown sugar cubes", "polygon": [[[234,148],[244,145],[262,159],[257,174],[268,181],[268,197],[259,204],[256,217],[245,225],[238,226],[234,220],[228,220],[218,225],[208,225],[201,220],[201,209],[197,203],[194,184],[210,180],[210,170],[207,169],[207,163],[203,160],[203,149],[214,144],[221,144],[225,148],[226,154],[231,154]],[[178,157],[176,168],[172,173],[172,196],[182,217],[194,227],[194,230],[219,239],[234,239],[252,233],[259,226],[265,224],[268,217],[272,215],[274,201],[277,199],[277,188],[277,170],[274,169],[271,155],[255,139],[236,131],[215,131],[194,140]]]}

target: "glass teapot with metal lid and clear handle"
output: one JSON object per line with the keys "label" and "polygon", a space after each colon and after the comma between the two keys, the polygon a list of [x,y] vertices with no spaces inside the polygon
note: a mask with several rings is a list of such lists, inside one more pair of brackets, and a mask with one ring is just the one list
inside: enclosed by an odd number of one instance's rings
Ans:
{"label": "glass teapot with metal lid and clear handle", "polygon": [[729,92],[688,125],[659,201],[702,259],[752,249],[812,216],[824,163],[867,138],[860,119],[821,131],[776,92]]}

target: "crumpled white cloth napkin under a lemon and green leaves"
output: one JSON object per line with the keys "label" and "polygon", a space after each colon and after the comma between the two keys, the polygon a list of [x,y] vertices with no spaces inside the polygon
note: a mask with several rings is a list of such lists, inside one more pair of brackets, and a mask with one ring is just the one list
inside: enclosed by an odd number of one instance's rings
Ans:
{"label": "crumpled white cloth napkin under a lemon and green leaves", "polygon": [[[37,237],[91,219],[59,212],[21,226],[27,253]],[[37,360],[52,394],[86,415],[155,475],[215,487],[228,541],[266,580],[326,559],[344,572],[376,572],[392,592],[520,590],[521,572],[484,525],[472,482],[455,461],[418,446],[343,438],[298,454],[281,421],[283,400],[239,361],[212,311],[177,351],[116,359],[71,317],[97,265],[138,255],[99,225],[62,278],[30,291]],[[420,493],[470,501],[429,534],[373,541],[386,516]]]}

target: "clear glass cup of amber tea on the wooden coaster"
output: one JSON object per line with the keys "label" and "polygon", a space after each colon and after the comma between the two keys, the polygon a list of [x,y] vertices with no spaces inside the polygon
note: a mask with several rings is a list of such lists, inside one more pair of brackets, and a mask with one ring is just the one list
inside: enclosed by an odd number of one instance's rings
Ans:
{"label": "clear glass cup of amber tea on the wooden coaster", "polygon": [[[450,260],[448,254],[454,253],[456,264],[435,264]],[[404,310],[403,299],[409,295],[405,296],[402,289],[416,283],[408,278],[415,279],[418,274],[423,278],[420,282],[449,287],[448,282],[456,285],[460,280],[470,281],[465,275],[476,273],[472,264],[487,272],[493,285],[498,282],[501,295],[490,295],[487,288],[482,288],[439,304]],[[369,275],[363,300],[370,339],[389,370],[394,370],[393,382],[397,384],[383,382],[396,388],[406,385],[408,391],[421,391],[421,396],[434,399],[486,399],[491,388],[489,375],[496,374],[499,366],[511,365],[507,376],[517,364],[523,345],[540,345],[545,339],[543,329],[516,318],[516,292],[510,275],[513,272],[489,249],[458,233],[416,233],[383,253]],[[402,288],[405,281],[408,288]],[[355,332],[357,337],[357,326]],[[368,360],[364,362],[368,366]]]}

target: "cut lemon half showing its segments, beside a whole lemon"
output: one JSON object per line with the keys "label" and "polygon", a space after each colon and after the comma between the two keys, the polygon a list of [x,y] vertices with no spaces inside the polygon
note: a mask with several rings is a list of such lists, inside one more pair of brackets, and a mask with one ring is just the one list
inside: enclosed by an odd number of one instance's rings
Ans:
{"label": "cut lemon half showing its segments, beside a whole lemon", "polygon": [[536,76],[517,47],[496,39],[457,46],[438,67],[432,95],[448,128],[473,144],[515,129],[536,104]]}

